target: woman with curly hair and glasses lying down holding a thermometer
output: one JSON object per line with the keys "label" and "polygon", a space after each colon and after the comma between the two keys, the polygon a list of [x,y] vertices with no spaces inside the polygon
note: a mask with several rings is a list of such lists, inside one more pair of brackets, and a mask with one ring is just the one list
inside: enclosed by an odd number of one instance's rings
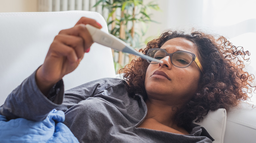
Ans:
{"label": "woman with curly hair and glasses lying down holding a thermometer", "polygon": [[41,121],[53,108],[62,110],[79,142],[212,142],[192,120],[202,120],[209,110],[228,110],[255,88],[236,58],[248,52],[223,37],[169,31],[142,50],[161,63],[138,58],[122,69],[126,81],[96,80],[65,91],[63,98],[63,76],[93,43],[84,24],[101,28],[83,17],[60,31],[43,65],[9,95],[2,115]]}

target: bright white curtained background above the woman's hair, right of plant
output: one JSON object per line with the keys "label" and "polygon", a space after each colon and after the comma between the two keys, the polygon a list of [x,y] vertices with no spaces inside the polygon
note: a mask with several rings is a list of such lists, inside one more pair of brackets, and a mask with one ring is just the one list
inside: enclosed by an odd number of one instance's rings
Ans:
{"label": "bright white curtained background above the woman's hair, right of plant", "polygon": [[166,29],[190,31],[192,28],[220,34],[230,39],[244,33],[256,33],[254,0],[158,0],[155,2],[162,11],[152,10],[152,19],[160,24],[151,23],[148,36],[156,35]]}

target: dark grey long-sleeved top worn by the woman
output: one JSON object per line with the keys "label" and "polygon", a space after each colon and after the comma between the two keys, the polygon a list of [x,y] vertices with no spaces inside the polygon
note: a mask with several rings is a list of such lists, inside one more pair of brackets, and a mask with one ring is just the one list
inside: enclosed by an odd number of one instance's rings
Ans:
{"label": "dark grey long-sleeved top worn by the woman", "polygon": [[8,119],[45,119],[52,109],[65,113],[64,124],[79,142],[86,143],[205,143],[212,142],[207,131],[191,124],[190,135],[156,131],[138,126],[145,119],[147,106],[128,96],[126,82],[117,78],[92,81],[65,91],[59,81],[46,98],[35,82],[35,72],[15,88],[1,106]]}

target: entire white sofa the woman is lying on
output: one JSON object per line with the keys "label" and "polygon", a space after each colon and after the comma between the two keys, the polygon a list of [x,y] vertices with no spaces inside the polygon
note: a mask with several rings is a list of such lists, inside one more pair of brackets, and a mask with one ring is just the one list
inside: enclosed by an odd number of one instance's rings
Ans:
{"label": "entire white sofa the woman is lying on", "polygon": [[[0,105],[43,63],[59,30],[74,26],[82,16],[96,19],[108,32],[105,20],[96,12],[0,13]],[[104,77],[116,77],[112,52],[95,43],[79,67],[64,78],[65,89]],[[241,102],[228,113],[225,109],[210,112],[200,124],[214,143],[256,142],[256,109],[249,103]]]}

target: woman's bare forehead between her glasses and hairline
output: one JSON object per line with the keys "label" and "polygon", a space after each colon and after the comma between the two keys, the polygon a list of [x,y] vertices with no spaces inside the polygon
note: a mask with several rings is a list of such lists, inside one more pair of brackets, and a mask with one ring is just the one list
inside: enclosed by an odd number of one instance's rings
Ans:
{"label": "woman's bare forehead between her glasses and hairline", "polygon": [[196,55],[198,54],[197,46],[190,40],[186,40],[185,38],[181,37],[166,41],[160,48],[165,49],[168,53],[187,51]]}

